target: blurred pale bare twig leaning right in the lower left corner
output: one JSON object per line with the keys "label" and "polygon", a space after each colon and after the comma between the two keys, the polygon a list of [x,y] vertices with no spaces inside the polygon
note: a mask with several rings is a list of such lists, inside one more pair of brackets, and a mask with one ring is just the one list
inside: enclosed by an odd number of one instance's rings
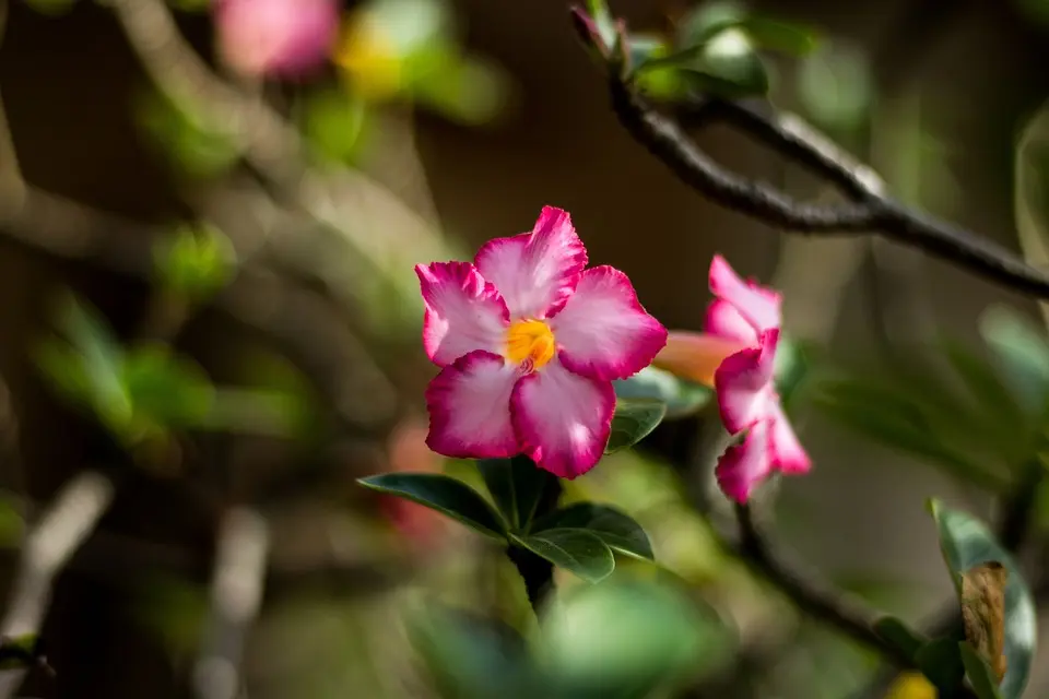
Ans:
{"label": "blurred pale bare twig leaning right in the lower left corner", "polygon": [[[39,633],[55,579],[91,535],[113,501],[113,483],[94,471],[76,475],[30,531],[0,636]],[[0,674],[0,698],[13,697],[25,671]]]}

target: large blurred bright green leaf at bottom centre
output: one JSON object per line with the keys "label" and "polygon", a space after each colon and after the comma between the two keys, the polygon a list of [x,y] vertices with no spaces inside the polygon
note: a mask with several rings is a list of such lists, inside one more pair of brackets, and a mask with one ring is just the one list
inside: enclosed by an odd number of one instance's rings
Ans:
{"label": "large blurred bright green leaf at bottom centre", "polygon": [[566,699],[663,696],[653,692],[683,675],[708,676],[733,653],[732,636],[712,608],[641,581],[577,589],[541,632],[540,662]]}

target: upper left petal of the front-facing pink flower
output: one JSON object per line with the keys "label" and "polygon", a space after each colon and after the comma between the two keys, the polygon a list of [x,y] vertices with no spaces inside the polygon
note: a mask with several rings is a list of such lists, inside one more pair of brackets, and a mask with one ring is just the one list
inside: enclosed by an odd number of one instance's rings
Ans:
{"label": "upper left petal of the front-facing pink flower", "polygon": [[423,347],[439,367],[473,352],[500,353],[509,324],[503,297],[469,262],[415,265],[426,316]]}

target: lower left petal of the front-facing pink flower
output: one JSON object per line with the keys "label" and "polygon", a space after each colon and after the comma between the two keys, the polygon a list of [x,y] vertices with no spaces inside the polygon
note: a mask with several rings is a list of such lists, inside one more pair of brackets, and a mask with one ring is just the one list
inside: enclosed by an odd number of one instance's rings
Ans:
{"label": "lower left petal of the front-facing pink flower", "polygon": [[519,378],[503,357],[476,351],[440,370],[426,387],[426,446],[457,459],[499,459],[520,452],[510,422]]}

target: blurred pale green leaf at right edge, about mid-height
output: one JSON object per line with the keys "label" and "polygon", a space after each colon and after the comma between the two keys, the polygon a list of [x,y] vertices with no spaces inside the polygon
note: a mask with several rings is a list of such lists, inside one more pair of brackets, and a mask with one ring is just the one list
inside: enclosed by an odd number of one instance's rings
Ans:
{"label": "blurred pale green leaf at right edge, about mid-height", "polygon": [[1016,400],[1028,414],[1044,416],[1049,406],[1049,344],[1041,332],[1004,306],[989,308],[979,328]]}

